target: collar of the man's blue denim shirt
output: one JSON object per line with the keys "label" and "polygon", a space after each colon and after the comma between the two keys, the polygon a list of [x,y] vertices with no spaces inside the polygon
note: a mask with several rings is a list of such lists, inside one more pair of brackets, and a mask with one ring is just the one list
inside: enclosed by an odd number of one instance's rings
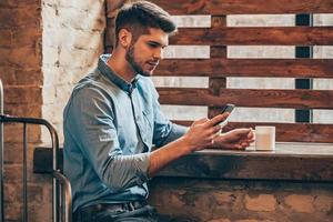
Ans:
{"label": "collar of the man's blue denim shirt", "polygon": [[134,77],[131,83],[127,82],[124,79],[119,77],[109,65],[108,60],[111,58],[111,54],[102,54],[100,56],[98,69],[102,74],[104,74],[109,80],[111,80],[114,84],[117,84],[120,89],[124,90],[128,93],[131,93],[138,83],[139,74]]}

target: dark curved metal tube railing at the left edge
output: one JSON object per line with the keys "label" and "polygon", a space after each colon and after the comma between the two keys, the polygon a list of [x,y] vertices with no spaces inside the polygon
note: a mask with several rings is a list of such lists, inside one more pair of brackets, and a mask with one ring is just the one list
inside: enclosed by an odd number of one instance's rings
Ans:
{"label": "dark curved metal tube railing at the left edge", "polygon": [[4,123],[21,123],[23,124],[23,215],[22,221],[28,221],[28,180],[27,180],[27,157],[28,157],[28,124],[44,125],[50,132],[52,141],[52,176],[53,176],[53,200],[52,200],[52,218],[53,222],[72,221],[72,196],[71,185],[68,179],[62,174],[59,168],[59,139],[56,129],[44,119],[38,118],[21,118],[3,114],[3,88],[0,80],[0,221],[4,221],[3,211],[3,124]]}

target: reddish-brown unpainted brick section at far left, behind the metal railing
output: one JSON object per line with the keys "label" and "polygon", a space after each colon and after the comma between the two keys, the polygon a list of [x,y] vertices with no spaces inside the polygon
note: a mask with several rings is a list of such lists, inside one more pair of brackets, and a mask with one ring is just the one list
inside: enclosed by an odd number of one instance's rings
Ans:
{"label": "reddish-brown unpainted brick section at far left, behind the metal railing", "polygon": [[[42,105],[42,24],[40,0],[0,1],[0,78],[4,85],[4,112],[13,115],[41,117]],[[21,221],[22,128],[6,125],[4,210],[8,221]],[[40,141],[40,129],[29,128],[29,157],[32,143]],[[33,203],[42,199],[42,186],[29,178]],[[39,205],[29,210],[37,212]],[[37,212],[38,213],[38,212]]]}

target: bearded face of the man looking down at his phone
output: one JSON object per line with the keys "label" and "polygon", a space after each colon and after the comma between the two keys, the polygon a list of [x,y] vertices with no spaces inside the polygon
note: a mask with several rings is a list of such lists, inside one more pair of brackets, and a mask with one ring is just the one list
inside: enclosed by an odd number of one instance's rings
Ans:
{"label": "bearded face of the man looking down at his phone", "polygon": [[163,49],[168,46],[168,38],[169,34],[161,29],[150,28],[149,33],[131,42],[125,54],[127,61],[137,73],[152,75],[162,59]]}

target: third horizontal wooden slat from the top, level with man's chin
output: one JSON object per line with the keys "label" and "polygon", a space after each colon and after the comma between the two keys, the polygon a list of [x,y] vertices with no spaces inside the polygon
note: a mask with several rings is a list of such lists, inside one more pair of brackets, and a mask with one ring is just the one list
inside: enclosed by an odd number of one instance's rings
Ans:
{"label": "third horizontal wooden slat from the top, level with man's chin", "polygon": [[333,78],[333,60],[165,59],[154,75]]}

